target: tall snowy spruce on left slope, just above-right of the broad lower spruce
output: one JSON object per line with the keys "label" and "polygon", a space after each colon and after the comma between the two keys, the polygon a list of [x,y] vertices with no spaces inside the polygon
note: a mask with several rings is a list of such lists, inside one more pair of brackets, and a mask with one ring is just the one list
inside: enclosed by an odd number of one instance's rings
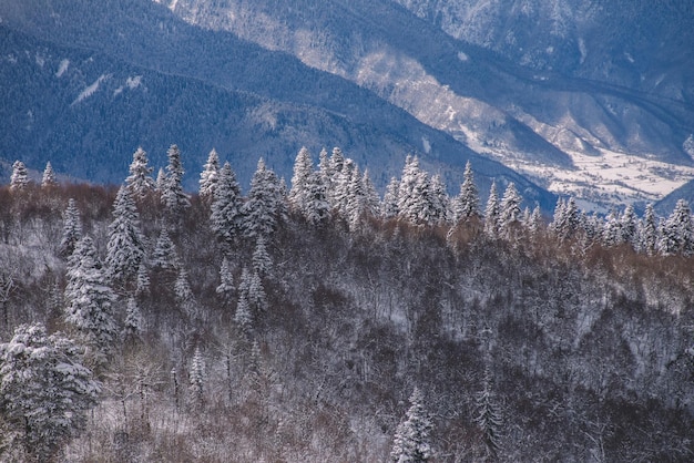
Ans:
{"label": "tall snowy spruce on left slope, just above-right of the broad lower spruce", "polygon": [[113,222],[109,225],[106,243],[106,275],[112,281],[127,284],[135,280],[145,257],[144,235],[140,229],[140,214],[126,186],[121,186],[113,203]]}

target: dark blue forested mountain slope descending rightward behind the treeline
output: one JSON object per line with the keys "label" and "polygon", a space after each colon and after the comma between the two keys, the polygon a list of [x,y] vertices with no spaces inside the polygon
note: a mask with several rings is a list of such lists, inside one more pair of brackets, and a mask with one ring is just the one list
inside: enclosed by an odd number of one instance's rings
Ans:
{"label": "dark blue forested mountain slope descending rightward behind the treeline", "polygon": [[[244,185],[264,156],[289,178],[302,145],[326,146],[385,185],[407,154],[445,174],[455,192],[468,160],[486,193],[516,182],[529,204],[552,195],[498,162],[340,76],[228,32],[190,25],[152,2],[27,1],[0,6],[0,153],[41,169],[121,182],[142,145],[153,165],[176,143],[195,188],[208,151]],[[317,161],[317,160],[316,160]]]}

